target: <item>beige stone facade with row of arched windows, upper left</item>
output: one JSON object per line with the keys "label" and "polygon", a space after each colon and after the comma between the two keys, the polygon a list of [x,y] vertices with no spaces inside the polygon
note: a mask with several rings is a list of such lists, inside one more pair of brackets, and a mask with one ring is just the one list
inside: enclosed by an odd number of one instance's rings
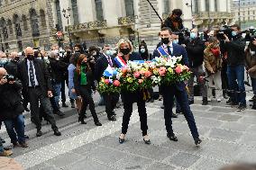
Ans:
{"label": "beige stone facade with row of arched windows, upper left", "polygon": [[1,49],[50,49],[54,27],[50,0],[0,0]]}

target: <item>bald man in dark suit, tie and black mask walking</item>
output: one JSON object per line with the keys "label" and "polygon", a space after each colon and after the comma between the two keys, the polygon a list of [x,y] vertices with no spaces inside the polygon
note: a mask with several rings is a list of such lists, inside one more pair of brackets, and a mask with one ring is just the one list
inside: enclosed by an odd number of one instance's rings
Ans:
{"label": "bald man in dark suit, tie and black mask walking", "polygon": [[49,97],[52,96],[50,75],[46,65],[40,59],[34,58],[34,51],[31,47],[25,49],[25,59],[18,64],[18,78],[22,81],[25,94],[29,96],[31,103],[31,113],[37,128],[36,136],[41,136],[41,121],[39,117],[39,102],[47,114],[47,119],[51,124],[54,135],[61,133],[56,126]]}

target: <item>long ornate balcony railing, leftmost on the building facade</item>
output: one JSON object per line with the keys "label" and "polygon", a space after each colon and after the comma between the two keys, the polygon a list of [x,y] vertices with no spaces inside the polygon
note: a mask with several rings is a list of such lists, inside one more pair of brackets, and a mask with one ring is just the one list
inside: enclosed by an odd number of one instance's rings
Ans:
{"label": "long ornate balcony railing, leftmost on the building facade", "polygon": [[65,31],[85,31],[85,30],[96,30],[106,27],[106,21],[95,21],[79,23],[77,25],[69,25],[65,27]]}

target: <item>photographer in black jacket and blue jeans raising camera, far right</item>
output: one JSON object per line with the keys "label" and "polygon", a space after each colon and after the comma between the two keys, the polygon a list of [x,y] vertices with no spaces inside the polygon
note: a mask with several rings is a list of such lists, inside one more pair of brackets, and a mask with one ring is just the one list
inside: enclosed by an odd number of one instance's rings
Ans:
{"label": "photographer in black jacket and blue jeans raising camera, far right", "polygon": [[[242,40],[241,28],[238,24],[231,27],[232,38],[230,40],[226,34],[225,47],[227,49],[227,76],[228,84],[231,89],[231,103],[228,105],[235,106],[237,104],[237,112],[241,112],[246,108],[246,94],[244,87],[244,48],[245,42]],[[237,85],[238,89],[237,89]]]}

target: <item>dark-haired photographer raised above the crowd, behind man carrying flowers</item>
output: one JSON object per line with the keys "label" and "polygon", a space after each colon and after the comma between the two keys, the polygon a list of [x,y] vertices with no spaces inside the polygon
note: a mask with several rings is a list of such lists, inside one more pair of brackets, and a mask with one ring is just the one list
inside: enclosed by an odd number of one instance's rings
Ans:
{"label": "dark-haired photographer raised above the crowd, behind man carrying flowers", "polygon": [[180,16],[182,15],[182,11],[180,9],[174,9],[169,17],[164,21],[161,28],[169,27],[171,31],[180,31],[184,29],[182,24],[182,19]]}

